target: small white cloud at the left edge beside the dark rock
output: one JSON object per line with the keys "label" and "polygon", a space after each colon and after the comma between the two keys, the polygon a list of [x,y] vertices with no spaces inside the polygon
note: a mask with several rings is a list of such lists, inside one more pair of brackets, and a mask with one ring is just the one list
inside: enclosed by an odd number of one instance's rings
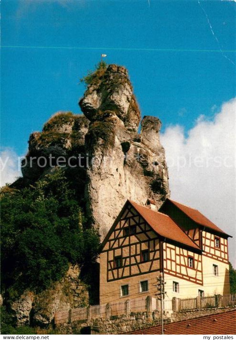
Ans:
{"label": "small white cloud at the left edge beside the dark rock", "polygon": [[11,148],[0,152],[0,187],[6,183],[13,183],[16,177],[21,176],[18,169],[18,156]]}

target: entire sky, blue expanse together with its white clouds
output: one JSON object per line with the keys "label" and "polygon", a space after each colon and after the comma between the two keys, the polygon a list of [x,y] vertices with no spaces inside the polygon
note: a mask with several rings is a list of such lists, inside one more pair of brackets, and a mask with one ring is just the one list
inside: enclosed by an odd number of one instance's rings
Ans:
{"label": "entire sky, blue expanse together with its white clouds", "polygon": [[20,174],[30,133],[80,113],[79,79],[105,53],[128,68],[142,115],[162,121],[172,199],[234,236],[236,267],[235,32],[235,1],[2,0],[1,185]]}

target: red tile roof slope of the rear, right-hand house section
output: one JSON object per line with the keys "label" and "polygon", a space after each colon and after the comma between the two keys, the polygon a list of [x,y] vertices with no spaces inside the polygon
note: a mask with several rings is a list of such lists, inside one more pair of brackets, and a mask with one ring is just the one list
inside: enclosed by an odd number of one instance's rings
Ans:
{"label": "red tile roof slope of the rear, right-hand house section", "polygon": [[201,224],[202,226],[208,227],[210,229],[213,229],[221,234],[226,234],[223,230],[221,230],[217,225],[215,225],[213,222],[208,220],[204,215],[201,214],[200,211],[190,208],[184,204],[172,201],[170,199],[167,199],[170,202],[172,202],[176,207],[178,207],[180,210],[182,210],[188,217],[190,217],[194,222]]}

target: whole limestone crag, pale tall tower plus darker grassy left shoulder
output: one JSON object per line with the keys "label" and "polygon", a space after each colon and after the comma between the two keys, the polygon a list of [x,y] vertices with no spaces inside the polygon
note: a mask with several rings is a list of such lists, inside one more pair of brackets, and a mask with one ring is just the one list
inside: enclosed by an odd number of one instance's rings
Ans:
{"label": "whole limestone crag, pale tall tower plus darker grassy left shoulder", "polygon": [[[79,105],[84,115],[57,113],[41,133],[31,134],[23,181],[51,171],[58,157],[72,157],[73,167],[66,163],[64,169],[72,173],[90,225],[99,228],[103,239],[127,199],[144,204],[152,198],[160,206],[169,196],[161,122],[145,116],[138,133],[141,114],[128,71],[117,65],[93,78]],[[74,159],[79,155],[82,167]]]}

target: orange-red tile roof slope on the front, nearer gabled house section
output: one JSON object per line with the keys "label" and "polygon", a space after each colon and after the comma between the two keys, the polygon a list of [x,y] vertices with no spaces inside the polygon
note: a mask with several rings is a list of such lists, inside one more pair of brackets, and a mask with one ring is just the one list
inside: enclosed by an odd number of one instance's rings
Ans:
{"label": "orange-red tile roof slope on the front, nearer gabled house section", "polygon": [[129,203],[138,211],[142,218],[157,234],[178,243],[185,244],[195,250],[200,250],[190,237],[188,237],[169,216],[144,207],[143,205],[133,201],[129,201]]}

